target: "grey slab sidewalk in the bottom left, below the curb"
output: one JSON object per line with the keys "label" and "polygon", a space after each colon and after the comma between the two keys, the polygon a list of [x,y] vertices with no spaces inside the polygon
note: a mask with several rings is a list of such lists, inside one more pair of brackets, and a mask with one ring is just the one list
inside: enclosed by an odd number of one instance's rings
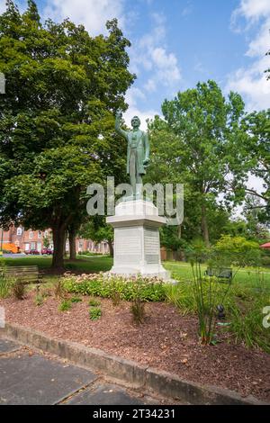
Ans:
{"label": "grey slab sidewalk in the bottom left, below the curb", "polygon": [[161,404],[98,374],[0,338],[0,405]]}

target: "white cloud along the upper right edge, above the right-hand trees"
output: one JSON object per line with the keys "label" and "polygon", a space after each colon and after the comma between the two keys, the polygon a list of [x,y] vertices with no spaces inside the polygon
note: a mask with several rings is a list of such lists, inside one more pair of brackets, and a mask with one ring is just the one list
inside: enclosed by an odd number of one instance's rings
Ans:
{"label": "white cloud along the upper right edge, above the right-hand trees", "polygon": [[245,18],[247,30],[254,23],[259,26],[257,35],[249,42],[246,52],[246,56],[253,60],[251,65],[239,68],[229,75],[226,89],[242,94],[247,102],[247,110],[268,108],[270,83],[266,80],[264,71],[270,67],[270,58],[266,56],[266,51],[270,49],[270,1],[241,0],[232,16],[234,20]]}

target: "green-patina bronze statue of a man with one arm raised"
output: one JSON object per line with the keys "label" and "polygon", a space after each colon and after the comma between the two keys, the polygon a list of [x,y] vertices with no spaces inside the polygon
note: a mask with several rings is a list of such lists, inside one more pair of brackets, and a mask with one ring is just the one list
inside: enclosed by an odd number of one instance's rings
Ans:
{"label": "green-patina bronze statue of a man with one arm raised", "polygon": [[138,198],[140,196],[140,187],[142,186],[142,175],[146,174],[146,167],[149,163],[148,134],[143,130],[139,130],[140,121],[138,116],[134,116],[131,119],[132,130],[122,130],[120,121],[121,111],[117,111],[115,130],[128,142],[127,174],[130,175],[133,197]]}

